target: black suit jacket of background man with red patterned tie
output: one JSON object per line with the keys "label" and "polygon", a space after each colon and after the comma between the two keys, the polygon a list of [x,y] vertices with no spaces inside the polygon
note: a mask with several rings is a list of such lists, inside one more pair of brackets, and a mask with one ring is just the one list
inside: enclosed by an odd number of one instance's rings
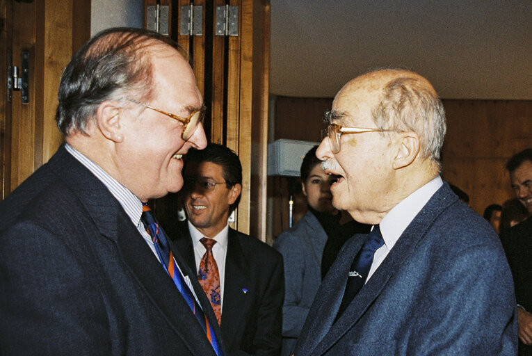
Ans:
{"label": "black suit jacket of background man with red patterned tie", "polygon": [[[175,223],[168,235],[188,266],[197,271],[188,223]],[[284,298],[281,254],[229,229],[224,284],[221,328],[227,355],[279,355]]]}

